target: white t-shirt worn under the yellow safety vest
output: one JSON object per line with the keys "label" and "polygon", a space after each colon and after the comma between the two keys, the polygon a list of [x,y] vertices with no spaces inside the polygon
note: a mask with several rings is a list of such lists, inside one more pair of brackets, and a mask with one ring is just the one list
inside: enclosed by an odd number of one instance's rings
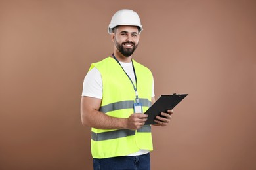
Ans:
{"label": "white t-shirt worn under the yellow safety vest", "polygon": [[[131,78],[133,81],[133,84],[135,84],[135,75],[133,72],[133,63],[123,63],[119,62],[127,75]],[[132,84],[131,84],[132,86]],[[100,71],[96,69],[95,67],[91,69],[87,75],[85,76],[85,79],[83,80],[83,92],[82,96],[87,97],[95,97],[97,99],[102,99],[102,78]],[[152,83],[152,97],[154,97],[154,80]],[[139,156],[142,154],[147,154],[149,150],[139,150],[138,152],[135,152],[133,154],[129,154],[128,156]]]}

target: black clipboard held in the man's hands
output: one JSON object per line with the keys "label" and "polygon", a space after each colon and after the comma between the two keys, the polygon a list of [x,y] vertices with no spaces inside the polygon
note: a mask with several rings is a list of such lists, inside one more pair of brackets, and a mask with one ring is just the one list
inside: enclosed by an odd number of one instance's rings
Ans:
{"label": "black clipboard held in the man's hands", "polygon": [[145,124],[157,124],[154,119],[156,116],[161,116],[161,112],[173,109],[178,103],[182,101],[188,94],[173,94],[161,95],[158,100],[148,109],[144,114],[148,114],[148,120]]}

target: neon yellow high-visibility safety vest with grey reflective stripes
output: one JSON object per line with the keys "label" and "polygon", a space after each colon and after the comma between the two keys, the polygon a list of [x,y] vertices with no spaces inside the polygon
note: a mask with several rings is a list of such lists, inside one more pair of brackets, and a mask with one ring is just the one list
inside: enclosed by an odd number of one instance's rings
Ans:
{"label": "neon yellow high-visibility safety vest with grey reflective stripes", "polygon": [[[153,76],[151,71],[133,60],[137,76],[137,91],[143,112],[151,105]],[[102,103],[100,112],[117,118],[128,118],[133,114],[135,90],[131,81],[114,58],[108,57],[92,63],[102,76]],[[135,84],[135,83],[134,83]],[[127,156],[140,149],[153,150],[151,126],[144,125],[138,130],[91,129],[91,152],[93,158]]]}

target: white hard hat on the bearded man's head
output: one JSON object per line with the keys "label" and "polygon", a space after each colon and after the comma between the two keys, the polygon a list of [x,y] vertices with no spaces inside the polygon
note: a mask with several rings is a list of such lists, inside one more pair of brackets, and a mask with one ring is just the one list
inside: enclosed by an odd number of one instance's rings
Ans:
{"label": "white hard hat on the bearded man's head", "polygon": [[118,25],[131,25],[140,27],[139,33],[143,30],[142,25],[140,24],[140,17],[139,15],[129,9],[122,9],[117,11],[110,21],[110,25],[108,25],[108,33],[112,33],[112,29]]}

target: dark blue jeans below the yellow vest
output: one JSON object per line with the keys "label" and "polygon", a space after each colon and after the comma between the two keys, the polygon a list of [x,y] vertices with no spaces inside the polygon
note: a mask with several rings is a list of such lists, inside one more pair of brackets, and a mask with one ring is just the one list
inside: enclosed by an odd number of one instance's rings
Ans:
{"label": "dark blue jeans below the yellow vest", "polygon": [[113,158],[93,158],[94,170],[150,170],[150,153],[140,156],[117,156]]}

